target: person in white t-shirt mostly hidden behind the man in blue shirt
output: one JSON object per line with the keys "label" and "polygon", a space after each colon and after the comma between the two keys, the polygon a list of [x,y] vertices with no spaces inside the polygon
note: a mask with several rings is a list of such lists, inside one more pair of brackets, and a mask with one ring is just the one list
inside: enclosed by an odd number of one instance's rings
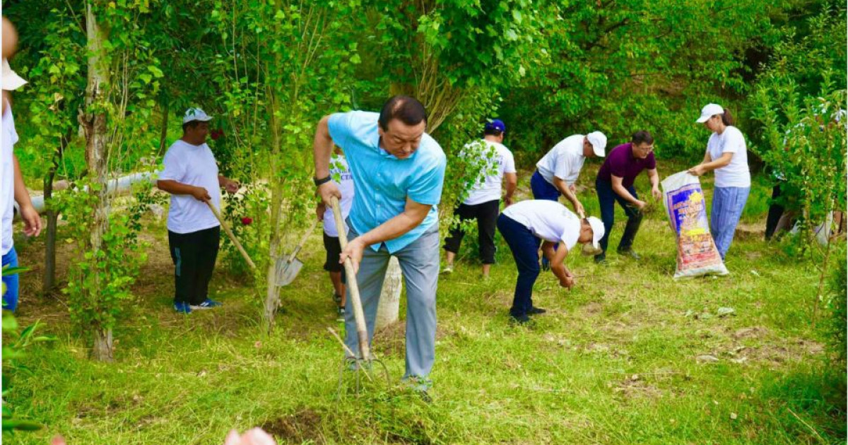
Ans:
{"label": "person in white t-shirt mostly hidden behind the man in blue shirt", "polygon": [[[342,200],[338,203],[339,209],[342,211],[342,220],[348,219],[350,214],[350,206],[354,203],[354,176],[350,173],[347,159],[342,156],[342,150],[336,146],[333,150],[332,158],[330,158],[330,177],[333,184],[338,186],[338,191],[342,193]],[[324,261],[324,270],[330,274],[332,281],[333,300],[338,304],[338,321],[344,321],[345,307],[345,292],[344,292],[344,268],[338,262],[339,255],[342,254],[342,244],[338,241],[338,227],[336,227],[336,219],[332,214],[332,209],[327,209],[324,203],[318,203],[315,209],[315,214],[318,220],[324,221],[324,250],[326,250],[326,260]],[[344,224],[344,234],[348,234],[348,225]]]}

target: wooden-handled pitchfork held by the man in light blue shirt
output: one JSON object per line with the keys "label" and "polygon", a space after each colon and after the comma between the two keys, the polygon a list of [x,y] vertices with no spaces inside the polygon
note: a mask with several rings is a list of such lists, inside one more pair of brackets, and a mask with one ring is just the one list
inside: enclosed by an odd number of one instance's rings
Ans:
{"label": "wooden-handled pitchfork held by the man in light blue shirt", "polygon": [[[330,207],[332,208],[332,215],[336,220],[336,228],[338,229],[338,242],[342,245],[342,250],[348,247],[348,236],[344,231],[344,221],[342,220],[342,211],[338,207],[338,198],[331,197],[330,198]],[[342,385],[343,385],[343,376],[344,371],[353,368],[355,374],[355,392],[359,394],[361,387],[361,376],[360,370],[365,373],[365,377],[369,381],[374,381],[374,370],[381,370],[383,375],[385,376],[387,385],[390,383],[388,377],[388,368],[386,364],[382,363],[382,360],[374,357],[374,354],[371,353],[371,347],[368,344],[368,329],[365,326],[365,312],[362,310],[362,300],[360,299],[360,287],[356,283],[356,273],[354,272],[354,264],[353,262],[347,258],[344,259],[344,271],[347,274],[348,281],[348,289],[349,296],[348,298],[348,307],[353,307],[354,309],[354,320],[356,320],[356,335],[359,337],[360,350],[359,356],[356,355],[347,345],[344,344],[342,337],[339,337],[336,331],[332,328],[328,327],[327,330],[330,331],[333,337],[336,337],[339,342],[342,343],[342,348],[344,348],[344,359],[342,360],[342,368],[339,371],[338,375],[338,393],[342,393]],[[375,366],[375,364],[377,366]]]}

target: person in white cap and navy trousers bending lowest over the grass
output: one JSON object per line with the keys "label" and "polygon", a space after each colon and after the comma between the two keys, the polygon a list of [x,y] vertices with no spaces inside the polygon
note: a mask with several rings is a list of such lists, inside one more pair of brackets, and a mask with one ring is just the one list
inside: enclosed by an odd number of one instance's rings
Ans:
{"label": "person in white cap and navy trousers bending lowest over the grass", "polygon": [[566,267],[566,256],[577,243],[589,243],[584,253],[599,253],[600,239],[604,237],[604,223],[599,219],[594,216],[580,218],[561,203],[545,199],[522,201],[504,209],[498,218],[498,230],[510,246],[518,268],[516,292],[510,308],[510,319],[518,324],[529,322],[529,315],[545,312],[533,306],[532,298],[533,284],[539,273],[539,243],[560,286],[571,289],[575,278]]}

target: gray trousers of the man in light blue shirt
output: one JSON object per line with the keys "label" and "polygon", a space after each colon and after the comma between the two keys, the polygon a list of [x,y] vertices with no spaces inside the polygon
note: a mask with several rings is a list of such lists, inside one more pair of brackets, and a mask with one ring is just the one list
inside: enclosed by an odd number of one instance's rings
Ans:
{"label": "gray trousers of the man in light blue shirt", "polygon": [[[350,226],[348,239],[359,236]],[[436,359],[436,286],[438,284],[438,224],[410,245],[394,253],[398,257],[400,270],[406,284],[406,372],[409,377],[426,378]],[[368,342],[374,337],[374,320],[377,319],[377,303],[380,301],[382,281],[386,277],[388,259],[391,258],[385,245],[374,252],[365,248],[356,281],[360,286],[362,310],[368,326]],[[348,301],[350,299],[348,288]],[[354,311],[348,306],[344,314],[344,342],[351,351],[359,353],[359,338],[356,336]]]}

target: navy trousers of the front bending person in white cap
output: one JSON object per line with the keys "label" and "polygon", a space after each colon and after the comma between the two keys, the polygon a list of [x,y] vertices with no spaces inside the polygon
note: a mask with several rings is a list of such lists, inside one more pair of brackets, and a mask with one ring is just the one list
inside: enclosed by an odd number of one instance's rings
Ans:
{"label": "navy trousers of the front bending person in white cap", "polygon": [[536,283],[539,272],[538,246],[541,240],[522,223],[505,214],[500,214],[498,217],[498,230],[504,236],[506,244],[510,246],[512,258],[516,259],[518,281],[516,281],[516,292],[512,298],[510,314],[521,317],[527,315],[527,311],[533,308],[533,284]]}

